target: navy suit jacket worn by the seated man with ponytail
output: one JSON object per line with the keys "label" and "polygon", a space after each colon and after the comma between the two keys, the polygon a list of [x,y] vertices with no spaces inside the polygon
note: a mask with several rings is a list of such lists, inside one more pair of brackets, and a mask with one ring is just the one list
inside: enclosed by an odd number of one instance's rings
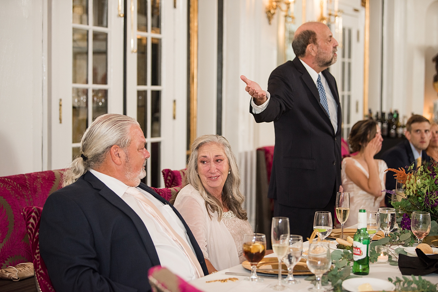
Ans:
{"label": "navy suit jacket worn by the seated man with ponytail", "polygon": [[[201,249],[177,209],[145,184],[140,187],[172,207],[207,275]],[[91,172],[47,198],[39,248],[57,292],[151,291],[148,270],[160,264],[141,218]]]}

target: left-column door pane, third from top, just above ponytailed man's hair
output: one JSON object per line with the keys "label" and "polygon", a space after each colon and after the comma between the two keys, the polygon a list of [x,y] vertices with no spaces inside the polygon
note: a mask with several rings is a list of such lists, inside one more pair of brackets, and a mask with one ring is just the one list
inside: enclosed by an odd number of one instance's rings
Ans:
{"label": "left-column door pane, third from top, just above ponytailed man's hair", "polygon": [[88,127],[88,89],[73,88],[73,143],[81,142]]}

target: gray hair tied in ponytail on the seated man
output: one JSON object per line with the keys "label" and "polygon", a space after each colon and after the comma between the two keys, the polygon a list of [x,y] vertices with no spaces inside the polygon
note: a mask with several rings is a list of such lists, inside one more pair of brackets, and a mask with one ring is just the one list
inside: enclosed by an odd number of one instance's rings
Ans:
{"label": "gray hair tied in ponytail on the seated man", "polygon": [[[129,131],[132,126],[139,126],[130,116],[109,113],[99,116],[81,139],[81,156],[75,158],[64,172],[62,186],[74,183],[89,169],[99,167],[106,152],[113,145],[124,149],[131,142]],[[85,158],[82,158],[85,156]]]}

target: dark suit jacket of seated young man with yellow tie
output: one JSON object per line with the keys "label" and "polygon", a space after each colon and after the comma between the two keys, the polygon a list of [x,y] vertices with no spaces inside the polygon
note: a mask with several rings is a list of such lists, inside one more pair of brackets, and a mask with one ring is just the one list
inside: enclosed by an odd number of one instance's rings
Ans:
{"label": "dark suit jacket of seated young man with yellow tie", "polygon": [[[389,148],[382,153],[380,159],[385,160],[388,168],[399,169],[399,167],[405,168],[406,172],[409,165],[415,162],[414,167],[417,167],[417,162],[413,158],[412,148],[409,141],[405,140],[400,142],[396,146]],[[426,154],[426,151],[421,151],[422,162],[429,162],[430,157]],[[396,179],[393,176],[395,173],[388,171],[386,174],[386,190],[394,190],[396,188]]]}

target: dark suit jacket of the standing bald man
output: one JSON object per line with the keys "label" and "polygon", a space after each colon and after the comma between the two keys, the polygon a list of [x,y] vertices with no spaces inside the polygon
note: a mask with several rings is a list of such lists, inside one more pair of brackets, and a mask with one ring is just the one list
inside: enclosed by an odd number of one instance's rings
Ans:
{"label": "dark suit jacket of the standing bald man", "polygon": [[[338,105],[338,129],[319,102],[318,88],[298,58],[272,71],[268,106],[253,114],[274,121],[275,148],[268,197],[296,208],[324,208],[341,184],[341,106],[335,78],[322,71]],[[250,106],[252,113],[252,107]]]}

